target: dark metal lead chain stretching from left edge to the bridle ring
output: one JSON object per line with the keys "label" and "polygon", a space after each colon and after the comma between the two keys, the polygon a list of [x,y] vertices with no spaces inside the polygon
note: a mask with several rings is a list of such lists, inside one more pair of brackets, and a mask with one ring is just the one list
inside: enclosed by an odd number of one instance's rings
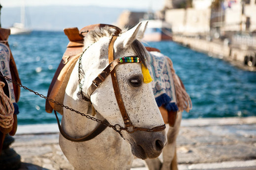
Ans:
{"label": "dark metal lead chain stretching from left edge to the bridle ring", "polygon": [[[77,113],[77,114],[80,114],[80,115],[82,115],[82,116],[85,116],[85,117],[88,118],[88,119],[91,119],[91,120],[96,121],[96,122],[98,122],[98,123],[104,124],[105,126],[108,126],[108,127],[112,128],[112,129],[114,129],[117,133],[119,133],[119,135],[120,135],[122,138],[123,138],[123,135],[121,134],[121,130],[127,130],[126,128],[122,128],[122,127],[121,127],[120,125],[118,125],[118,124],[116,124],[116,125],[107,124],[107,123],[104,123],[104,122],[103,122],[102,120],[100,120],[100,119],[97,119],[97,118],[92,117],[92,116],[90,116],[90,115],[88,115],[88,114],[84,114],[84,113],[81,113],[81,112],[79,112],[79,111],[76,111],[76,110],[74,110],[74,109],[72,109],[72,108],[70,108],[70,107],[68,107],[68,106],[65,106],[65,105],[63,105],[62,103],[59,103],[59,102],[57,102],[57,101],[55,101],[55,100],[53,100],[53,99],[51,99],[51,98],[49,98],[49,97],[46,97],[46,96],[44,96],[44,95],[42,95],[42,94],[39,94],[38,92],[36,92],[36,91],[34,91],[34,90],[32,90],[32,89],[30,89],[30,88],[24,86],[24,85],[21,85],[21,84],[15,82],[15,81],[13,81],[12,79],[9,79],[9,78],[6,77],[6,76],[0,75],[0,77],[6,79],[6,80],[9,81],[9,82],[14,83],[15,85],[18,85],[18,86],[24,88],[25,90],[29,90],[30,92],[33,92],[34,94],[36,94],[37,96],[39,96],[39,97],[41,97],[41,98],[44,98],[45,100],[48,100],[48,101],[50,101],[50,102],[52,102],[52,103],[55,103],[55,104],[57,104],[57,105],[59,105],[59,106],[65,108],[65,109],[68,109],[68,110],[70,110],[70,111],[72,111],[72,112],[74,112],[74,113]],[[119,126],[120,128],[118,128],[118,126]]]}

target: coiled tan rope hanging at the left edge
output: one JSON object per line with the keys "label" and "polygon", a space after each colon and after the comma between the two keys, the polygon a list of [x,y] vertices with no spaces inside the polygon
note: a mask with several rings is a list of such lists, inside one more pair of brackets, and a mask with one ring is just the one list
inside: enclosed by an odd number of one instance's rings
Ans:
{"label": "coiled tan rope hanging at the left edge", "polygon": [[4,85],[3,82],[0,82],[0,126],[7,129],[13,125],[14,107],[9,97],[3,92]]}

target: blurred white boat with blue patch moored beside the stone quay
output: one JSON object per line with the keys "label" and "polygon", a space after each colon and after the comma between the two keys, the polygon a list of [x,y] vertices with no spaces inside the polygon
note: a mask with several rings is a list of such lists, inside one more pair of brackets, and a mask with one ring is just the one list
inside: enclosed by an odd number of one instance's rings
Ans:
{"label": "blurred white boat with blue patch moored beside the stone quay", "polygon": [[162,20],[148,20],[144,41],[172,41],[172,26]]}

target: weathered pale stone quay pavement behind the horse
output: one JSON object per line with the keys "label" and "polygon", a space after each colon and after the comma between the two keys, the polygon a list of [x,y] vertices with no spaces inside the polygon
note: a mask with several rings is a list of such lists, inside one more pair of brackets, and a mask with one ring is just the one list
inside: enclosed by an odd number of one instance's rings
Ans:
{"label": "weathered pale stone quay pavement behind the horse", "polygon": [[[20,125],[11,148],[20,170],[73,170],[58,145],[57,124]],[[256,117],[183,119],[179,170],[256,170]],[[147,170],[136,159],[132,170]]]}

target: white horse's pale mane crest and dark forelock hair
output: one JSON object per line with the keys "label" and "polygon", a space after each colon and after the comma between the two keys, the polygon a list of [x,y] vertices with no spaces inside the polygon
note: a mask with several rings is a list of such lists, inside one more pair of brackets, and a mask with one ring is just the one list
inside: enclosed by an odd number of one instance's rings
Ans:
{"label": "white horse's pale mane crest and dark forelock hair", "polygon": [[[126,32],[127,28],[124,28],[121,33]],[[84,37],[84,49],[88,48],[91,44],[99,41],[102,37],[111,37],[115,34],[116,29],[111,28],[109,26],[106,27],[96,27],[94,30],[91,30]],[[142,63],[147,66],[148,65],[148,52],[146,48],[139,40],[134,40],[131,44],[132,49],[136,53],[136,56],[140,58]]]}

